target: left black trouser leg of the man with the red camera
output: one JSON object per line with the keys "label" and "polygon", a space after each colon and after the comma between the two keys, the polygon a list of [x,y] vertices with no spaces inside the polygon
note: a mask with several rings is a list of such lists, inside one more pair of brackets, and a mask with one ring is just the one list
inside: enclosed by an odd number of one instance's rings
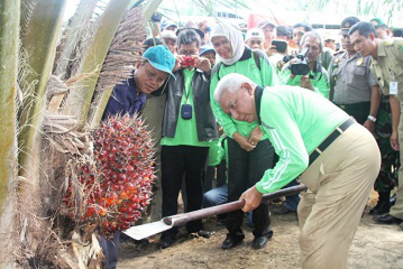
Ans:
{"label": "left black trouser leg of the man with the red camera", "polygon": [[[161,147],[161,184],[162,184],[162,217],[178,213],[178,196],[183,181],[185,158],[181,146]],[[161,237],[174,238],[178,228],[173,227],[162,233]]]}

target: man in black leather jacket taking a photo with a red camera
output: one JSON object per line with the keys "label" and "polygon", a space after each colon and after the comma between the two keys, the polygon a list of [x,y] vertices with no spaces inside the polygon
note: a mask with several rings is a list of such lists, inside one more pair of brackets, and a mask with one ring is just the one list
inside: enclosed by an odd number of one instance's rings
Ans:
{"label": "man in black leather jacket taking a photo with a red camera", "polygon": [[[188,212],[202,208],[203,179],[209,141],[218,138],[216,121],[210,105],[210,61],[199,56],[200,36],[194,29],[179,32],[173,74],[166,89],[162,122],[162,217],[178,213],[178,196],[183,178]],[[191,236],[210,237],[202,220],[186,224]],[[178,228],[161,235],[161,247],[174,243]]]}

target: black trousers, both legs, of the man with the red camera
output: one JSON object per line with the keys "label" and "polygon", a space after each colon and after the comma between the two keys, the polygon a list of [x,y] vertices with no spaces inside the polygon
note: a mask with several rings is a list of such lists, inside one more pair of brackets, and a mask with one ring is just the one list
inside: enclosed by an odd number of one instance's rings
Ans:
{"label": "black trousers, both legs, of the man with the red camera", "polygon": [[[202,208],[203,179],[206,173],[208,147],[195,146],[162,146],[162,217],[178,213],[178,196],[181,190],[183,175],[187,196],[187,212]],[[203,229],[202,220],[194,220],[186,224],[189,233]],[[162,237],[174,238],[178,228],[173,227],[162,233]]]}

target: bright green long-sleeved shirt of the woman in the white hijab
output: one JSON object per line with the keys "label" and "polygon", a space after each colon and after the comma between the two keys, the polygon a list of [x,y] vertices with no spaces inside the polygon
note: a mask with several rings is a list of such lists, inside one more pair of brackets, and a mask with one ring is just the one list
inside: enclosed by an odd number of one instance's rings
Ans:
{"label": "bright green long-sleeved shirt of the woman in the white hijab", "polygon": [[[248,123],[245,121],[237,121],[230,115],[226,114],[220,107],[220,104],[214,100],[214,90],[216,89],[218,78],[224,77],[226,74],[238,73],[243,74],[250,78],[253,82],[259,86],[275,86],[278,85],[278,77],[276,75],[276,68],[270,64],[267,56],[262,52],[265,58],[260,59],[260,70],[256,66],[253,54],[251,58],[235,62],[231,66],[224,66],[219,63],[220,68],[218,72],[213,72],[210,82],[210,102],[217,119],[218,124],[224,129],[224,133],[231,137],[237,131],[241,136],[248,137],[250,132],[258,125],[258,122]],[[267,139],[266,134],[263,133],[262,139]]]}

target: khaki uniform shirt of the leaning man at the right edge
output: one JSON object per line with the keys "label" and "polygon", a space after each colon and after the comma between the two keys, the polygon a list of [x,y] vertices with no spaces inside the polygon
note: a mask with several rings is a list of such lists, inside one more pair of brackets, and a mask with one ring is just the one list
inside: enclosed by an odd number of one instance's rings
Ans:
{"label": "khaki uniform shirt of the leaning man at the right edge", "polygon": [[396,98],[403,102],[403,39],[393,38],[378,43],[378,58],[372,59],[371,71],[385,95],[389,85],[397,82]]}

